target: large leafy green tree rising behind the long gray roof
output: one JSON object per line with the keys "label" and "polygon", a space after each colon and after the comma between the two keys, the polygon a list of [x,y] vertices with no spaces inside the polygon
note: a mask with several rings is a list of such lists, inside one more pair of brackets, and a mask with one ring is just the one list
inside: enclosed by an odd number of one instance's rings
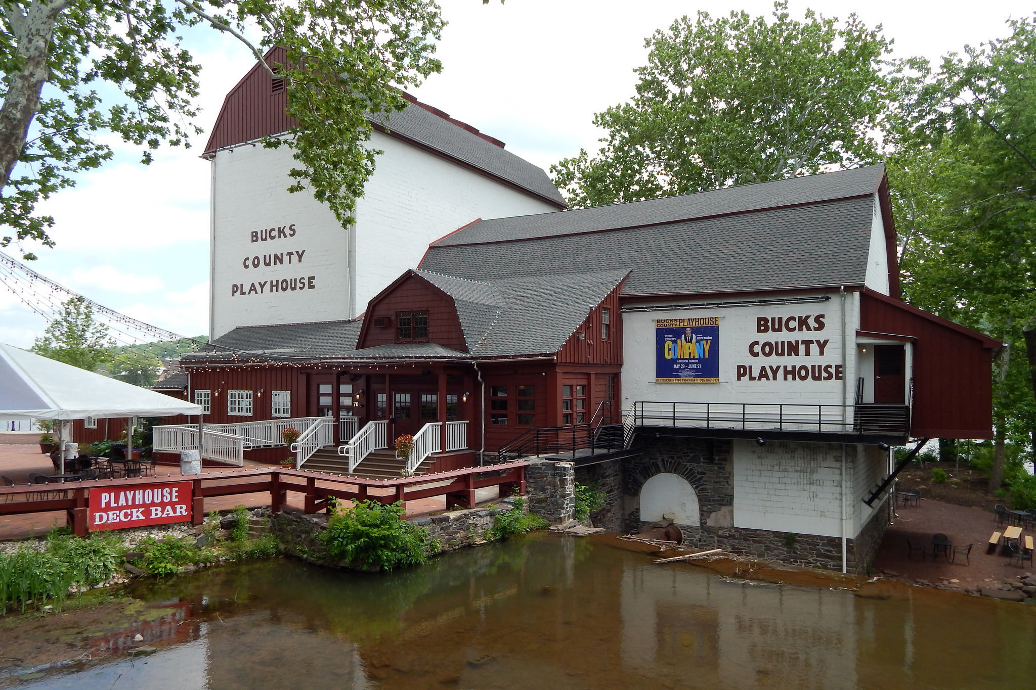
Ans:
{"label": "large leafy green tree rising behind the long gray roof", "polygon": [[632,202],[851,168],[879,157],[890,43],[855,14],[681,18],[645,41],[636,95],[594,117],[606,130],[551,168],[574,207]]}

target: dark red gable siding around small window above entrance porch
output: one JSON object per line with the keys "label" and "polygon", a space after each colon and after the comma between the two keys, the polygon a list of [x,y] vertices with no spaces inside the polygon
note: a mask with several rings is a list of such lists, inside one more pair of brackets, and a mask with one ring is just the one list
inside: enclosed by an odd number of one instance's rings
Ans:
{"label": "dark red gable siding around small window above entrance porch", "polygon": [[[396,280],[371,300],[356,347],[373,348],[397,342],[396,314],[413,311],[428,312],[429,342],[467,352],[453,298],[413,273]],[[378,326],[379,319],[386,319],[386,325]]]}

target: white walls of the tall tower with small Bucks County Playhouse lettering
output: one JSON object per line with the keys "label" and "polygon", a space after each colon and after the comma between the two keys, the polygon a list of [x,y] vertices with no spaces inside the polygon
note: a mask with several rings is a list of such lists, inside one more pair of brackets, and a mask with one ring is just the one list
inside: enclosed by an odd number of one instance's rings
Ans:
{"label": "white walls of the tall tower with small Bucks County Playhouse lettering", "polygon": [[[414,268],[430,242],[461,226],[479,217],[557,210],[386,134],[374,132],[371,146],[384,153],[356,202],[356,222],[349,230],[312,196],[286,191],[292,183],[288,171],[296,164],[290,149],[246,145],[215,154],[212,337],[236,326],[355,317],[392,280]],[[293,236],[278,236],[278,229],[287,235],[291,226]],[[262,241],[262,231],[269,228],[276,239]],[[259,241],[252,241],[252,233],[259,233]],[[301,262],[295,253],[290,265],[264,265],[267,256],[272,263],[272,254],[289,250],[303,252]],[[259,267],[253,268],[256,257]],[[243,267],[246,258],[250,268]],[[297,289],[299,277],[306,278],[305,290]],[[280,286],[285,278],[295,278],[296,290],[289,282],[288,292],[270,294],[269,281]]]}

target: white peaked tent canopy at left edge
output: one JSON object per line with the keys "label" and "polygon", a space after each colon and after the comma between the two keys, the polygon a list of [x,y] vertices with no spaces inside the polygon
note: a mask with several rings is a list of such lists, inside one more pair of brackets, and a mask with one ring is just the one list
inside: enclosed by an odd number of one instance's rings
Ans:
{"label": "white peaked tent canopy at left edge", "polygon": [[0,342],[2,418],[71,420],[199,414],[201,406]]}

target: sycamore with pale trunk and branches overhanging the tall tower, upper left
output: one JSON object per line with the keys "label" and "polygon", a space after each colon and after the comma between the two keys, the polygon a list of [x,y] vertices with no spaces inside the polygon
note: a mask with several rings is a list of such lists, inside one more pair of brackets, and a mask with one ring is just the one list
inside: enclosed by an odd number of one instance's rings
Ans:
{"label": "sycamore with pale trunk and branches overhanging the tall tower, upper left", "polygon": [[109,132],[141,147],[145,163],[164,143],[189,145],[199,65],[182,37],[205,28],[257,59],[286,49],[287,64],[266,68],[285,80],[299,124],[265,145],[290,147],[291,190],[347,223],[377,153],[365,146],[367,114],[402,110],[399,89],[441,69],[443,25],[433,0],[2,0],[0,246],[53,245],[54,219],[35,206],[110,159]]}

